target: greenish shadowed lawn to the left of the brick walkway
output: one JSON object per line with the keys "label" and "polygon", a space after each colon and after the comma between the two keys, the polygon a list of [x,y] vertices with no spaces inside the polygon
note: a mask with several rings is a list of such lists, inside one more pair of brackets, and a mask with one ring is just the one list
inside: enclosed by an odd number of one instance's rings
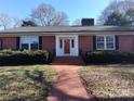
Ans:
{"label": "greenish shadowed lawn to the left of the brick walkway", "polygon": [[45,101],[54,80],[49,65],[2,66],[0,101]]}

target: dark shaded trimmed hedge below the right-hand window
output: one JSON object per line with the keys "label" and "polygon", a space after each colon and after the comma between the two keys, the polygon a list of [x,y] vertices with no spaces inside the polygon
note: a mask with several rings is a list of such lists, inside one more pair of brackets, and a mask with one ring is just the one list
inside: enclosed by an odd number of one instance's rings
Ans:
{"label": "dark shaded trimmed hedge below the right-hand window", "polygon": [[134,52],[94,51],[83,55],[85,63],[134,63]]}

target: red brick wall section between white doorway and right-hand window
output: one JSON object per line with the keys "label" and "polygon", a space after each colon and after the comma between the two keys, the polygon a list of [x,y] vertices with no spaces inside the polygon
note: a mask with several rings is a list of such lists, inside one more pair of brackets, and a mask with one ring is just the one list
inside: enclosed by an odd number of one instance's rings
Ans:
{"label": "red brick wall section between white doorway and right-hand window", "polygon": [[93,36],[79,36],[79,49],[83,52],[93,50]]}

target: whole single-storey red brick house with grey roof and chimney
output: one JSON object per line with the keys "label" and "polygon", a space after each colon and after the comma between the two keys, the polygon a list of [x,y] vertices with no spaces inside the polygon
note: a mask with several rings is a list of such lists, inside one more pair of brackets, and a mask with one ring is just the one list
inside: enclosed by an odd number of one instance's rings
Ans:
{"label": "whole single-storey red brick house with grey roof and chimney", "polygon": [[134,29],[118,26],[93,26],[93,20],[82,20],[82,26],[21,27],[0,31],[0,49],[46,49],[56,56],[78,56],[80,51],[134,51]]}

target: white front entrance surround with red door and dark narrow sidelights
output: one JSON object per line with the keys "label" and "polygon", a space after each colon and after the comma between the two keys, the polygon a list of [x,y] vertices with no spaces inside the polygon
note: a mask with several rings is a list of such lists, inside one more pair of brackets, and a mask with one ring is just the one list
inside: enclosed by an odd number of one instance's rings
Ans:
{"label": "white front entrance surround with red door and dark narrow sidelights", "polygon": [[78,56],[78,35],[57,35],[55,40],[56,56]]}

